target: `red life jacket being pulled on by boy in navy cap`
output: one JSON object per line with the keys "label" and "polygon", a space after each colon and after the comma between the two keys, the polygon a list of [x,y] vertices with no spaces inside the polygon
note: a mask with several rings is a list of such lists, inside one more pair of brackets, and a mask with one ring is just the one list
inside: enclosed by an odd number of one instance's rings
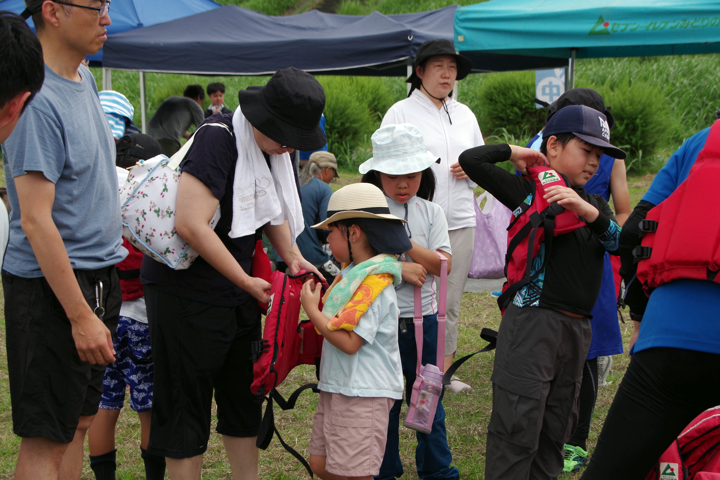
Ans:
{"label": "red life jacket being pulled on by boy in navy cap", "polygon": [[[570,186],[567,177],[547,167],[528,168],[528,173],[530,176],[525,177],[533,180],[534,191],[515,209],[514,218],[508,227],[508,253],[505,254],[505,277],[508,281],[503,285],[503,294],[498,298],[498,305],[503,311],[523,286],[544,271],[550,257],[553,237],[585,227],[585,222],[582,222],[577,214],[557,203],[549,204],[543,198],[545,189],[550,186]],[[533,258],[543,241],[545,253],[542,265],[531,275]]]}

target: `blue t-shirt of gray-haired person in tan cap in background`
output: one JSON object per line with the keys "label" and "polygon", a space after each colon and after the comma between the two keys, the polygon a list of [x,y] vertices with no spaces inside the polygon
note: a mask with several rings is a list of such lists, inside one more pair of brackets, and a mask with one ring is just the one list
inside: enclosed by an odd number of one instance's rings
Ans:
{"label": "blue t-shirt of gray-haired person in tan cap in background", "polygon": [[[318,177],[312,178],[306,185],[300,187],[300,195],[302,195],[302,217],[305,220],[305,230],[297,235],[297,248],[300,253],[313,265],[322,265],[330,260],[330,255],[323,250],[320,244],[318,232],[323,235],[325,230],[315,230],[310,228],[323,222],[328,216],[328,201],[333,194],[330,185]],[[325,234],[326,235],[326,234]]]}

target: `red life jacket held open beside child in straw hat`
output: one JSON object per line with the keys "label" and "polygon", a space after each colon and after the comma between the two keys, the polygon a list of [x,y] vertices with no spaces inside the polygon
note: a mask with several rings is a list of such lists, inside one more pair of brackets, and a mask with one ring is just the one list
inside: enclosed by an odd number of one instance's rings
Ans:
{"label": "red life jacket held open beside child in straw hat", "polygon": [[[305,384],[284,399],[276,387],[287,374],[298,365],[315,365],[316,374],[320,368],[320,353],[323,349],[323,337],[315,331],[310,320],[299,321],[300,289],[307,275],[320,281],[323,291],[327,291],[328,282],[320,279],[316,273],[302,270],[297,275],[286,275],[274,271],[269,281],[272,284],[270,299],[265,317],[263,339],[251,344],[253,361],[253,383],[251,389],[258,397],[265,397],[267,405],[258,432],[256,446],[265,450],[273,435],[277,435],[282,446],[302,463],[312,476],[312,470],[300,453],[290,447],[275,427],[273,403],[283,410],[292,409],[300,394],[307,390],[319,392],[318,384]],[[320,309],[323,304],[320,302]]]}

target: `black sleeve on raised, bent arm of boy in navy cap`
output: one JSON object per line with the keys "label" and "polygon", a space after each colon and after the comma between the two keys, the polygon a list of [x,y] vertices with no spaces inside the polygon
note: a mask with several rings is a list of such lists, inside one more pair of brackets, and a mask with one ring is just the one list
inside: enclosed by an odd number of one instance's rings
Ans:
{"label": "black sleeve on raised, bent arm of boy in navy cap", "polygon": [[510,145],[482,145],[460,154],[459,162],[470,180],[490,192],[501,204],[514,210],[533,192],[529,178],[514,175],[494,163],[510,160]]}

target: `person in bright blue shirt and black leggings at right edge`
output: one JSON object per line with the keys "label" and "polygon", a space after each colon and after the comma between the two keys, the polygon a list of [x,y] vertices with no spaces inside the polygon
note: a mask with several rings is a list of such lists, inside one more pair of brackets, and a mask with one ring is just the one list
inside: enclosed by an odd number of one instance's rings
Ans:
{"label": "person in bright blue shirt and black leggings at right edge", "polygon": [[[582,480],[644,479],[693,418],[720,404],[720,284],[717,279],[677,279],[658,286],[648,298],[635,278],[638,264],[632,253],[642,242],[641,222],[688,178],[703,148],[711,149],[705,162],[720,162],[719,122],[685,140],[625,222],[620,273],[635,325],[632,357]],[[720,178],[714,181],[718,184]],[[708,201],[715,196],[714,191],[696,194]],[[718,232],[718,215],[703,207],[707,205],[698,204],[697,213],[683,212],[708,224],[687,235]],[[714,245],[717,251],[718,239]]]}

